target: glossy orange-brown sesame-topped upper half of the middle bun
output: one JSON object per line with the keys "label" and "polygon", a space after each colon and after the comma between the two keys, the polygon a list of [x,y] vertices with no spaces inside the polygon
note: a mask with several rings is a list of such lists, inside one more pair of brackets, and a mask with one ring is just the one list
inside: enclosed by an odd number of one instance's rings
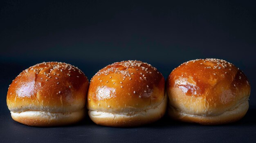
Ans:
{"label": "glossy orange-brown sesame-topped upper half of the middle bun", "polygon": [[127,113],[158,106],[164,99],[164,83],[163,75],[150,64],[116,62],[92,77],[88,109]]}

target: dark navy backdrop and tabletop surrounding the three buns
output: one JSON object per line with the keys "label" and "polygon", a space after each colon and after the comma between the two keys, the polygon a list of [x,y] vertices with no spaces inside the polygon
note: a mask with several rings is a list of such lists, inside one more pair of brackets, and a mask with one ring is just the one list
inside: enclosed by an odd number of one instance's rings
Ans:
{"label": "dark navy backdrop and tabletop surrounding the three buns", "polygon": [[[86,119],[86,123],[69,127],[32,128],[12,121],[6,106],[11,81],[40,62],[67,62],[90,79],[104,66],[128,59],[148,62],[167,77],[173,68],[198,58],[225,59],[246,73],[252,90],[244,119],[229,125],[201,126],[164,117],[157,123],[129,129],[101,127]],[[255,141],[255,61],[254,0],[2,0],[0,139]]]}

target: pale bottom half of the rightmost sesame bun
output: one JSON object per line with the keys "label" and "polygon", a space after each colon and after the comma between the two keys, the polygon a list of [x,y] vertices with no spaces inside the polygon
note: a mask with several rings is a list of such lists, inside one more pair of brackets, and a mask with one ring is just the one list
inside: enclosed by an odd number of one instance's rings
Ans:
{"label": "pale bottom half of the rightmost sesame bun", "polygon": [[180,110],[177,110],[173,106],[168,107],[168,115],[178,121],[199,123],[201,125],[220,125],[225,123],[232,123],[242,119],[249,108],[248,100],[244,101],[238,105],[233,110],[228,110],[220,115],[216,116],[203,116],[203,115],[193,115],[187,114]]}

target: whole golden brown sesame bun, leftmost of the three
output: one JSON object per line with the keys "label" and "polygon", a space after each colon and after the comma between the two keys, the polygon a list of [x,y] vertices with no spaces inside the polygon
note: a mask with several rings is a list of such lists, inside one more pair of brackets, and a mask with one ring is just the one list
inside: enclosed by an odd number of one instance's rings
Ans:
{"label": "whole golden brown sesame bun, leftmost of the three", "polygon": [[7,92],[7,106],[12,118],[26,125],[67,125],[85,116],[88,87],[87,77],[78,68],[44,62],[13,80]]}

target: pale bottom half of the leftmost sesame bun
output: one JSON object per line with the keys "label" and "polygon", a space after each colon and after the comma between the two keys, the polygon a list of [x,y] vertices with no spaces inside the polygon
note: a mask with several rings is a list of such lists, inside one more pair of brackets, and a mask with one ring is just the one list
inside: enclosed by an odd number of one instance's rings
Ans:
{"label": "pale bottom half of the leftmost sesame bun", "polygon": [[11,117],[14,121],[25,125],[49,127],[77,123],[85,117],[85,113],[84,109],[67,113],[28,110],[23,112],[11,112]]}

